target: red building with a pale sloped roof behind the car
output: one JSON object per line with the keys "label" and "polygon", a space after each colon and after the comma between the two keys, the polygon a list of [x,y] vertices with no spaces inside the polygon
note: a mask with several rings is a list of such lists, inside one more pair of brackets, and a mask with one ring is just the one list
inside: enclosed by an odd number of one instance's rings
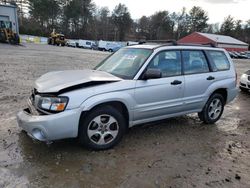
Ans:
{"label": "red building with a pale sloped roof behind the car", "polygon": [[248,50],[248,44],[237,40],[230,36],[216,35],[209,33],[194,32],[182,39],[178,43],[192,43],[192,44],[214,44],[227,51],[244,52]]}

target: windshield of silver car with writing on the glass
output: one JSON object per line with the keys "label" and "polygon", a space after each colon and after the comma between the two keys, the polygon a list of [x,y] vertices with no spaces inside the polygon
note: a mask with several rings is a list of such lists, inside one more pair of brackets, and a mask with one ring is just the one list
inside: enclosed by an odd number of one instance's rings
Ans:
{"label": "windshield of silver car with writing on the glass", "polygon": [[123,48],[105,59],[95,69],[123,79],[132,79],[151,53],[150,49]]}

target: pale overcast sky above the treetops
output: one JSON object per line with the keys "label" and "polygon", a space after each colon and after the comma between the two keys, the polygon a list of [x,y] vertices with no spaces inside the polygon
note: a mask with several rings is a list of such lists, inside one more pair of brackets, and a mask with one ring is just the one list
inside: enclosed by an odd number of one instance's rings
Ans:
{"label": "pale overcast sky above the treetops", "polygon": [[125,4],[133,19],[142,15],[150,16],[156,11],[168,10],[180,12],[182,7],[189,11],[193,6],[200,6],[208,12],[209,23],[221,23],[229,14],[235,19],[250,19],[250,0],[93,0],[97,6],[107,6],[110,10],[119,4]]}

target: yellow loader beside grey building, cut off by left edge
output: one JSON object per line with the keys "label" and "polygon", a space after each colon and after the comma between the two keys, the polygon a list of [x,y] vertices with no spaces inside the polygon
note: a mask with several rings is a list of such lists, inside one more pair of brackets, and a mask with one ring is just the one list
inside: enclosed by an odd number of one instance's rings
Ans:
{"label": "yellow loader beside grey building, cut off by left edge", "polygon": [[0,42],[20,43],[19,35],[12,30],[12,22],[0,20]]}

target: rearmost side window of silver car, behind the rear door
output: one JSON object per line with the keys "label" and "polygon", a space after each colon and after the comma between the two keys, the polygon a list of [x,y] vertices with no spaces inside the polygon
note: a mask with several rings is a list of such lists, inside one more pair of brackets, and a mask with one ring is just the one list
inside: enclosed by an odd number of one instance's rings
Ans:
{"label": "rearmost side window of silver car, behind the rear door", "polygon": [[214,63],[214,71],[228,70],[230,68],[229,61],[224,52],[208,51],[208,54]]}

